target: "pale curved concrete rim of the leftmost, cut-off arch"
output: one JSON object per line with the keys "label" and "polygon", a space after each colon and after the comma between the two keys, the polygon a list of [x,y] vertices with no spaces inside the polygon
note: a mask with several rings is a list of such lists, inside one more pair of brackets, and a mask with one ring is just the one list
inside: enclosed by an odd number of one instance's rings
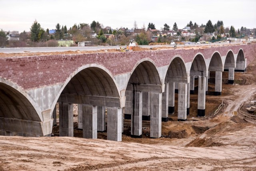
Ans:
{"label": "pale curved concrete rim of the leftmost, cut-off arch", "polygon": [[38,104],[34,101],[34,99],[32,99],[32,98],[30,97],[30,95],[28,95],[28,94],[26,93],[26,91],[25,91],[22,87],[20,87],[19,85],[17,85],[17,84],[15,84],[15,83],[11,82],[10,80],[4,79],[4,78],[0,78],[0,82],[1,82],[1,83],[4,83],[4,84],[6,84],[6,85],[8,85],[8,86],[10,86],[10,87],[12,87],[12,88],[14,88],[14,89],[16,89],[18,92],[20,92],[22,95],[24,95],[24,97],[25,97],[26,99],[28,99],[28,101],[30,102],[30,104],[34,107],[34,109],[35,109],[36,113],[38,114],[40,120],[41,120],[41,121],[44,121],[43,115],[42,115],[42,111],[40,110],[40,107],[39,107]]}

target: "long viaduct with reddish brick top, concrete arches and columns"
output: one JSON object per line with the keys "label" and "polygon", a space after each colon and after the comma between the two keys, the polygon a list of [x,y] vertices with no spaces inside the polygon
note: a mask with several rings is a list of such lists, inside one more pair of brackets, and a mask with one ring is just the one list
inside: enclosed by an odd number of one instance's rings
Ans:
{"label": "long viaduct with reddish brick top, concrete arches and columns", "polygon": [[205,115],[208,74],[215,72],[215,95],[222,92],[222,72],[244,72],[256,45],[217,46],[137,52],[0,58],[0,135],[48,136],[56,124],[60,136],[73,136],[73,104],[84,138],[122,141],[123,119],[131,119],[131,135],[141,137],[142,119],[150,120],[150,137],[161,136],[162,121],[174,112],[189,114],[190,92],[198,78],[198,116]]}

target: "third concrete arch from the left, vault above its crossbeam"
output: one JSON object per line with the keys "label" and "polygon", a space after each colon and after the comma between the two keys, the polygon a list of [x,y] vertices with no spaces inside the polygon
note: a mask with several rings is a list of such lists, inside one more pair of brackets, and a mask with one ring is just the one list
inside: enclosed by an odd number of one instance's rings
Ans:
{"label": "third concrete arch from the left, vault above its crossbeam", "polygon": [[132,69],[128,83],[161,85],[156,64],[149,58],[144,58],[136,63]]}

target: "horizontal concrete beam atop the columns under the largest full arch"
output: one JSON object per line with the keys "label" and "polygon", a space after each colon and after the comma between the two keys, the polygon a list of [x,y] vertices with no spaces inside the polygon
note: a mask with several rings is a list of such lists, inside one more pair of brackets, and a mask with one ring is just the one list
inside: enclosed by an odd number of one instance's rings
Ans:
{"label": "horizontal concrete beam atop the columns under the largest full arch", "polygon": [[61,94],[59,102],[86,104],[93,106],[119,107],[125,106],[125,97],[105,97],[105,96],[90,96],[90,95],[76,95],[76,94]]}

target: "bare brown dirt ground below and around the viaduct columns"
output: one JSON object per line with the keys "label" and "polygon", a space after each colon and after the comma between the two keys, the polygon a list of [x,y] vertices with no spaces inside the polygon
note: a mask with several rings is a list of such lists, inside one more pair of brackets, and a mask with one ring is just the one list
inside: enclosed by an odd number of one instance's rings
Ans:
{"label": "bare brown dirt ground below and around the viaduct columns", "polygon": [[[234,85],[224,84],[228,73],[223,72],[222,95],[206,96],[205,117],[196,117],[195,83],[188,120],[178,122],[175,111],[168,122],[162,122],[158,139],[149,137],[150,121],[142,122],[142,138],[131,138],[126,119],[122,142],[106,140],[106,131],[98,132],[98,139],[83,139],[77,129],[77,106],[74,137],[58,137],[58,125],[53,127],[53,137],[0,136],[0,171],[255,171],[256,113],[246,111],[256,100],[252,70],[235,73]],[[213,90],[214,84],[209,83],[209,93]]]}

